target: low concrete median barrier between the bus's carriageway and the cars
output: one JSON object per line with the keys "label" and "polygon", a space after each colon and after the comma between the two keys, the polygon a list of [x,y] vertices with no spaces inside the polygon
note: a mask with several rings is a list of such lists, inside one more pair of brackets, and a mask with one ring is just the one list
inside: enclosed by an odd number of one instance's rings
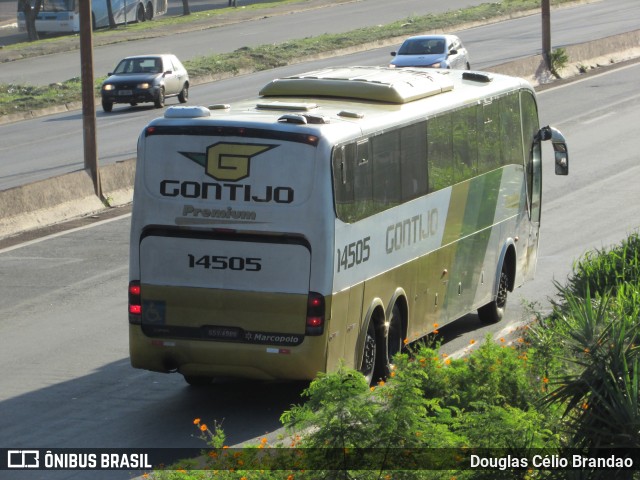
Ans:
{"label": "low concrete median barrier between the bus's carriageway and the cars", "polygon": [[[560,75],[575,78],[599,67],[640,58],[640,30],[563,48],[569,64]],[[522,77],[537,86],[554,82],[541,55],[487,70]],[[59,113],[65,108],[69,107],[32,112],[31,116]],[[0,239],[125,205],[132,200],[134,175],[135,159],[101,167],[103,199],[95,195],[92,179],[84,170],[0,191]]]}

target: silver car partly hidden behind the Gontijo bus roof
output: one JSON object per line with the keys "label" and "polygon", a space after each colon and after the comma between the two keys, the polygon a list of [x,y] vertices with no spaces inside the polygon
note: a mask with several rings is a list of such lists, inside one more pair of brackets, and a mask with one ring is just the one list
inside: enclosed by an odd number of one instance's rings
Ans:
{"label": "silver car partly hidden behind the Gontijo bus roof", "polygon": [[417,35],[407,38],[390,67],[453,68],[469,70],[471,63],[467,49],[455,35]]}

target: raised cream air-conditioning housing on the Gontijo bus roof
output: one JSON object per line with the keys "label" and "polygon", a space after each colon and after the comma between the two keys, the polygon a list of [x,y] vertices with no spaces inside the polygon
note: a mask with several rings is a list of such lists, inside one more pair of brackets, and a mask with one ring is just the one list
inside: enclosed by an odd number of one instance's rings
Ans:
{"label": "raised cream air-conditioning housing on the Gontijo bus roof", "polygon": [[409,103],[453,89],[446,72],[386,67],[337,67],[273,80],[260,90],[264,97],[358,98]]}

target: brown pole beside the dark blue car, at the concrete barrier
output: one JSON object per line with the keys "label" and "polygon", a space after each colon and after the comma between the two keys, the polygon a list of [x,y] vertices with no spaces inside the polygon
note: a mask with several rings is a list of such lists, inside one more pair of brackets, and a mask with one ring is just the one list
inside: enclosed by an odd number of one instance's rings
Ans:
{"label": "brown pole beside the dark blue car, at the concrete barrier", "polygon": [[96,104],[93,86],[93,38],[91,32],[91,0],[78,2],[80,13],[80,73],[82,80],[82,136],[84,169],[93,180],[93,188],[102,199],[98,149],[96,142]]}

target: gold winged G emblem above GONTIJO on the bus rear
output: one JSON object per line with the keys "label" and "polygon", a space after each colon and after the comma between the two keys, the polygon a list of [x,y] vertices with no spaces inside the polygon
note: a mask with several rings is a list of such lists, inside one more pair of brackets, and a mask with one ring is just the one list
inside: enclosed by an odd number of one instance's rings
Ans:
{"label": "gold winged G emblem above GONTIJO on the bus rear", "polygon": [[237,182],[249,176],[251,158],[276,145],[219,142],[207,147],[206,154],[180,152],[205,168],[205,173],[218,181]]}

